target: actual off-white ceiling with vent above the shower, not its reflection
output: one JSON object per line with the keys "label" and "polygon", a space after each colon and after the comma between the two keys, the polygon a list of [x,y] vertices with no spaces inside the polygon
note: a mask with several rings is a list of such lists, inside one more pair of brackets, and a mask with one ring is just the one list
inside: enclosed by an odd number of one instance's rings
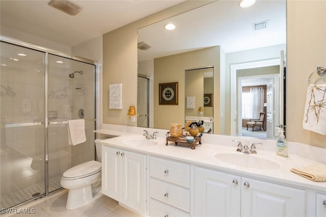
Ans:
{"label": "actual off-white ceiling with vent above the shower, not its reflection", "polygon": [[50,0],[0,0],[1,25],[67,46],[75,46],[184,0],[74,0],[83,10],[70,16]]}

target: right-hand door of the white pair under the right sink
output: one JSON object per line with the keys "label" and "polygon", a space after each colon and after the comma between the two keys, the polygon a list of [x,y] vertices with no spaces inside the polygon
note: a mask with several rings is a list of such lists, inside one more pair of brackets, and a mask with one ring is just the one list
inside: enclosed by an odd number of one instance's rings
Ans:
{"label": "right-hand door of the white pair under the right sink", "polygon": [[306,216],[302,189],[242,177],[241,216]]}

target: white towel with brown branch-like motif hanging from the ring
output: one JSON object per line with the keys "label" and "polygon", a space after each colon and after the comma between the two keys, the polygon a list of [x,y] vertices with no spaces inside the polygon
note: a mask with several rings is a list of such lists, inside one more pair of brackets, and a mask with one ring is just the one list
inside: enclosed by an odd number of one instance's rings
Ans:
{"label": "white towel with brown branch-like motif hanging from the ring", "polygon": [[326,84],[308,86],[303,128],[326,135]]}

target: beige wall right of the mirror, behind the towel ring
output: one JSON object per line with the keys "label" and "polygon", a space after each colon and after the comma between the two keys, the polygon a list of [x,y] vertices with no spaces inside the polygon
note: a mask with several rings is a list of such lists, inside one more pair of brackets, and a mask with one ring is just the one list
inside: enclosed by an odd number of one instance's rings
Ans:
{"label": "beige wall right of the mirror, behind the towel ring", "polygon": [[326,136],[304,130],[302,121],[308,77],[317,66],[326,67],[325,14],[325,0],[287,3],[287,138],[320,147],[326,147]]}

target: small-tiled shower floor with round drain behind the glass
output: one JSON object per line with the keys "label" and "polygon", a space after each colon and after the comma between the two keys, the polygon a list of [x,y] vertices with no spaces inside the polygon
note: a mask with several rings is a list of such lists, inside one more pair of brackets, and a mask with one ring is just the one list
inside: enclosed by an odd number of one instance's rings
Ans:
{"label": "small-tiled shower floor with round drain behind the glass", "polygon": [[[49,179],[49,192],[53,192],[61,188],[60,179],[61,176],[56,176]],[[42,194],[45,194],[44,183],[36,183],[10,193],[2,194],[0,197],[0,210],[24,203]]]}

